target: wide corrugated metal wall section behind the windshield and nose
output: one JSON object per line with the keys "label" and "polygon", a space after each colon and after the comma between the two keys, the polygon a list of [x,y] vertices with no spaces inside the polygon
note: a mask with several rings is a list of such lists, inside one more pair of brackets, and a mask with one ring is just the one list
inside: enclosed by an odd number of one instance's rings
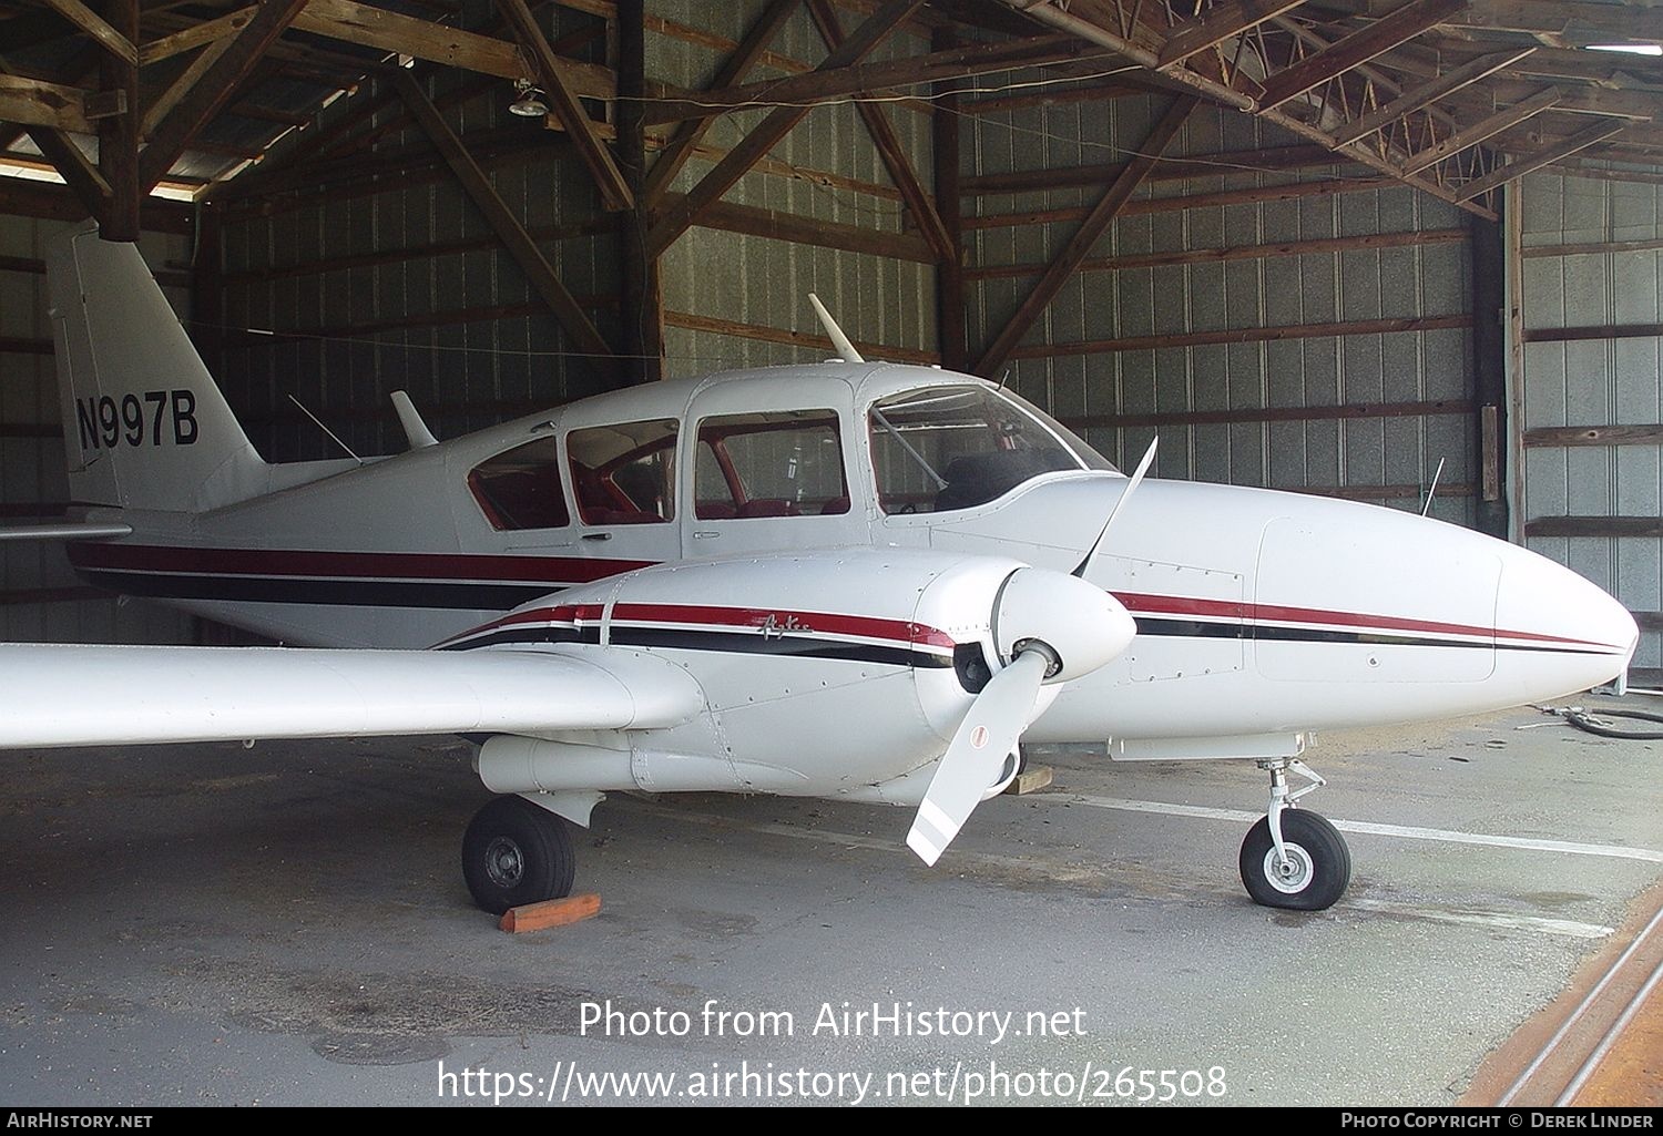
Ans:
{"label": "wide corrugated metal wall section behind the windshield and nose", "polygon": [[[1149,95],[965,118],[966,175],[1121,163],[1137,151],[1167,103],[1169,96]],[[1201,105],[1167,155],[1227,155],[1297,141],[1246,115]],[[1297,190],[1335,180],[1352,185],[1339,193]],[[1367,188],[1357,188],[1364,181]],[[1256,195],[1231,193],[1267,186],[1295,188],[1285,200],[1251,201],[1241,198]],[[971,358],[999,333],[1103,188],[966,198]],[[1221,193],[1222,203],[1202,196]],[[1179,205],[1182,200],[1194,203]],[[1044,216],[1051,211],[1061,216]],[[1036,213],[1041,218],[1019,225],[993,220]],[[1364,238],[1382,240],[1369,248]],[[1325,244],[1312,244],[1317,241]],[[1267,244],[1285,248],[1241,258],[1181,256]],[[1216,176],[1187,180],[1162,180],[1157,168],[1093,258],[1136,258],[1141,266],[1111,263],[1076,274],[1009,366],[1023,394],[1079,424],[1104,454],[1136,462],[1159,429],[1159,474],[1166,477],[1317,489],[1399,507],[1419,507],[1419,487],[1445,459],[1434,516],[1472,522],[1477,447],[1470,406],[1299,417],[1309,407],[1460,404],[1472,398],[1472,269],[1458,210],[1327,166],[1269,173],[1226,163]],[[1024,276],[998,271],[1011,264],[1034,268]],[[1389,319],[1422,321],[1432,329],[1365,329]],[[1359,328],[1312,334],[1312,324]],[[1231,338],[1244,341],[1217,343]],[[1292,414],[1257,414],[1267,407]],[[1214,421],[1184,421],[1196,414]],[[1114,424],[1128,416],[1142,424]],[[1285,421],[1252,421],[1257,417]]]}

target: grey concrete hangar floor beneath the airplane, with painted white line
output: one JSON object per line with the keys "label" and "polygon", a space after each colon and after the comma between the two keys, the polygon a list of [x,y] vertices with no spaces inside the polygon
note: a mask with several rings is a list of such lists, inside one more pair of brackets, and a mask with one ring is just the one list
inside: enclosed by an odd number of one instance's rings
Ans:
{"label": "grey concrete hangar floor beneath the airplane, with painted white line", "polygon": [[[662,1073],[675,1103],[896,1103],[903,1083],[1091,1103],[1121,1069],[1166,1094],[1171,1069],[1197,1103],[1447,1104],[1663,877],[1663,743],[1515,730],[1538,720],[1324,737],[1307,803],[1335,822],[1525,842],[1352,832],[1350,895],[1324,913],[1241,890],[1251,765],[1051,752],[1056,785],[986,805],[936,870],[901,810],[614,798],[579,840],[600,916],[522,936],[462,888],[486,792],[447,738],[5,753],[0,1101],[577,1103],[590,1078]],[[1147,812],[1167,805],[1192,810]],[[585,1035],[607,1000],[645,1036]],[[792,1035],[707,1033],[712,1000]],[[991,1016],[817,1031],[845,1001],[1014,1016],[1003,1040]],[[664,1036],[674,1011],[687,1036]],[[1029,1013],[1061,1036],[1014,1036]]]}

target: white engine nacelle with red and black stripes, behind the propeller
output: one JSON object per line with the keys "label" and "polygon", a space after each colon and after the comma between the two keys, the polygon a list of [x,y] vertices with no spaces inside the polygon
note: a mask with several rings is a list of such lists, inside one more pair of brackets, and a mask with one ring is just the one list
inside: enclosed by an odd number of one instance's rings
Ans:
{"label": "white engine nacelle with red and black stripes, behind the propeller", "polygon": [[1008,557],[836,549],[665,564],[527,604],[454,645],[637,649],[685,669],[705,712],[630,732],[629,752],[590,737],[550,735],[577,747],[564,750],[504,738],[481,775],[499,792],[840,795],[891,782],[940,758],[999,665],[994,605],[1021,569]]}

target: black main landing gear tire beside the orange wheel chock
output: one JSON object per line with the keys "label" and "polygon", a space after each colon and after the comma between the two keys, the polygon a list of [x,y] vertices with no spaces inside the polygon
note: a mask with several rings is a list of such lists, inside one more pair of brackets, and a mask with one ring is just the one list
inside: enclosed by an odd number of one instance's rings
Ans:
{"label": "black main landing gear tire beside the orange wheel chock", "polygon": [[462,835],[462,878],[492,915],[570,895],[575,872],[570,827],[524,797],[497,797]]}

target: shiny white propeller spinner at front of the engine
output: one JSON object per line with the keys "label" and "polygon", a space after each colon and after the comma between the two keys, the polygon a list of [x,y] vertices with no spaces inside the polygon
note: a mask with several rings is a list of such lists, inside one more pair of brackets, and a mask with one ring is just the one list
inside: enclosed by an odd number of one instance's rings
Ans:
{"label": "shiny white propeller spinner at front of the engine", "polygon": [[1024,567],[999,590],[993,634],[1004,659],[1023,640],[1046,644],[1063,664],[1053,680],[1068,682],[1126,650],[1137,625],[1103,587],[1066,572]]}

